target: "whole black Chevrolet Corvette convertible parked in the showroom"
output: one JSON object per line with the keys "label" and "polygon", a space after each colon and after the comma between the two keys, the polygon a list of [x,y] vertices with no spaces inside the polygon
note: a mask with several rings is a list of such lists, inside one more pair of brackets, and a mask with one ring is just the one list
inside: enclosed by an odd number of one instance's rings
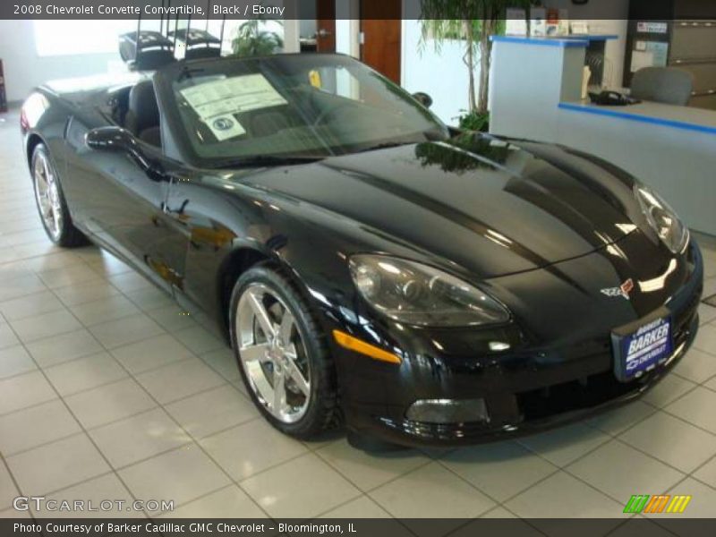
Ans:
{"label": "whole black Chevrolet Corvette convertible parked in the showroom", "polygon": [[651,388],[698,327],[678,216],[609,162],[423,105],[343,55],[215,58],[47,84],[21,129],[50,239],[215,318],[286,434],[470,443]]}

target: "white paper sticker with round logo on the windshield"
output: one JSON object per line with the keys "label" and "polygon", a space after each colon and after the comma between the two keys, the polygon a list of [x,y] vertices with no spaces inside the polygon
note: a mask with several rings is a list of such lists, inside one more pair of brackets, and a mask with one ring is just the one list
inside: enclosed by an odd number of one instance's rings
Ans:
{"label": "white paper sticker with round logo on the windshield", "polygon": [[218,141],[246,132],[236,120],[236,114],[287,104],[262,74],[205,82],[180,92]]}

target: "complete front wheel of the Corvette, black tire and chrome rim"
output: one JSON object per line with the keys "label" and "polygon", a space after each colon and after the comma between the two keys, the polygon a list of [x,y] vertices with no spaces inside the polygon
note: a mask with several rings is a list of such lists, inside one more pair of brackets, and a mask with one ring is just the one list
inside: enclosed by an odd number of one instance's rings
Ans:
{"label": "complete front wheel of the Corvette, black tire and chrome rim", "polygon": [[234,356],[251,400],[277,430],[312,439],[339,421],[325,337],[294,283],[268,264],[239,277],[230,302]]}

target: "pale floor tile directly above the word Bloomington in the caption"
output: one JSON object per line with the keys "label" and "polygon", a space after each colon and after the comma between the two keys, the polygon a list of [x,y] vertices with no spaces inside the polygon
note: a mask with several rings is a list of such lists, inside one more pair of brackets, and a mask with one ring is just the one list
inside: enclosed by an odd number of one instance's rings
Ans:
{"label": "pale floor tile directly above the word Bloomington in the caption", "polygon": [[278,518],[317,516],[361,494],[312,453],[250,477],[241,486],[269,516]]}

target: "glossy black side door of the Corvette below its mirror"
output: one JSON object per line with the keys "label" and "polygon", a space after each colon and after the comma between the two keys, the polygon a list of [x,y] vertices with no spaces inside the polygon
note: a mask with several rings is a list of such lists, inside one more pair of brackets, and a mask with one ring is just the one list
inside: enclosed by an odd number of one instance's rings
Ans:
{"label": "glossy black side door of the Corvette below its mirror", "polygon": [[166,240],[166,194],[171,180],[158,169],[173,167],[161,149],[137,141],[156,165],[142,166],[125,151],[90,149],[85,135],[90,122],[72,117],[67,141],[72,148],[72,191],[80,198],[81,225],[93,238],[143,271],[156,284],[171,289],[161,245]]}

